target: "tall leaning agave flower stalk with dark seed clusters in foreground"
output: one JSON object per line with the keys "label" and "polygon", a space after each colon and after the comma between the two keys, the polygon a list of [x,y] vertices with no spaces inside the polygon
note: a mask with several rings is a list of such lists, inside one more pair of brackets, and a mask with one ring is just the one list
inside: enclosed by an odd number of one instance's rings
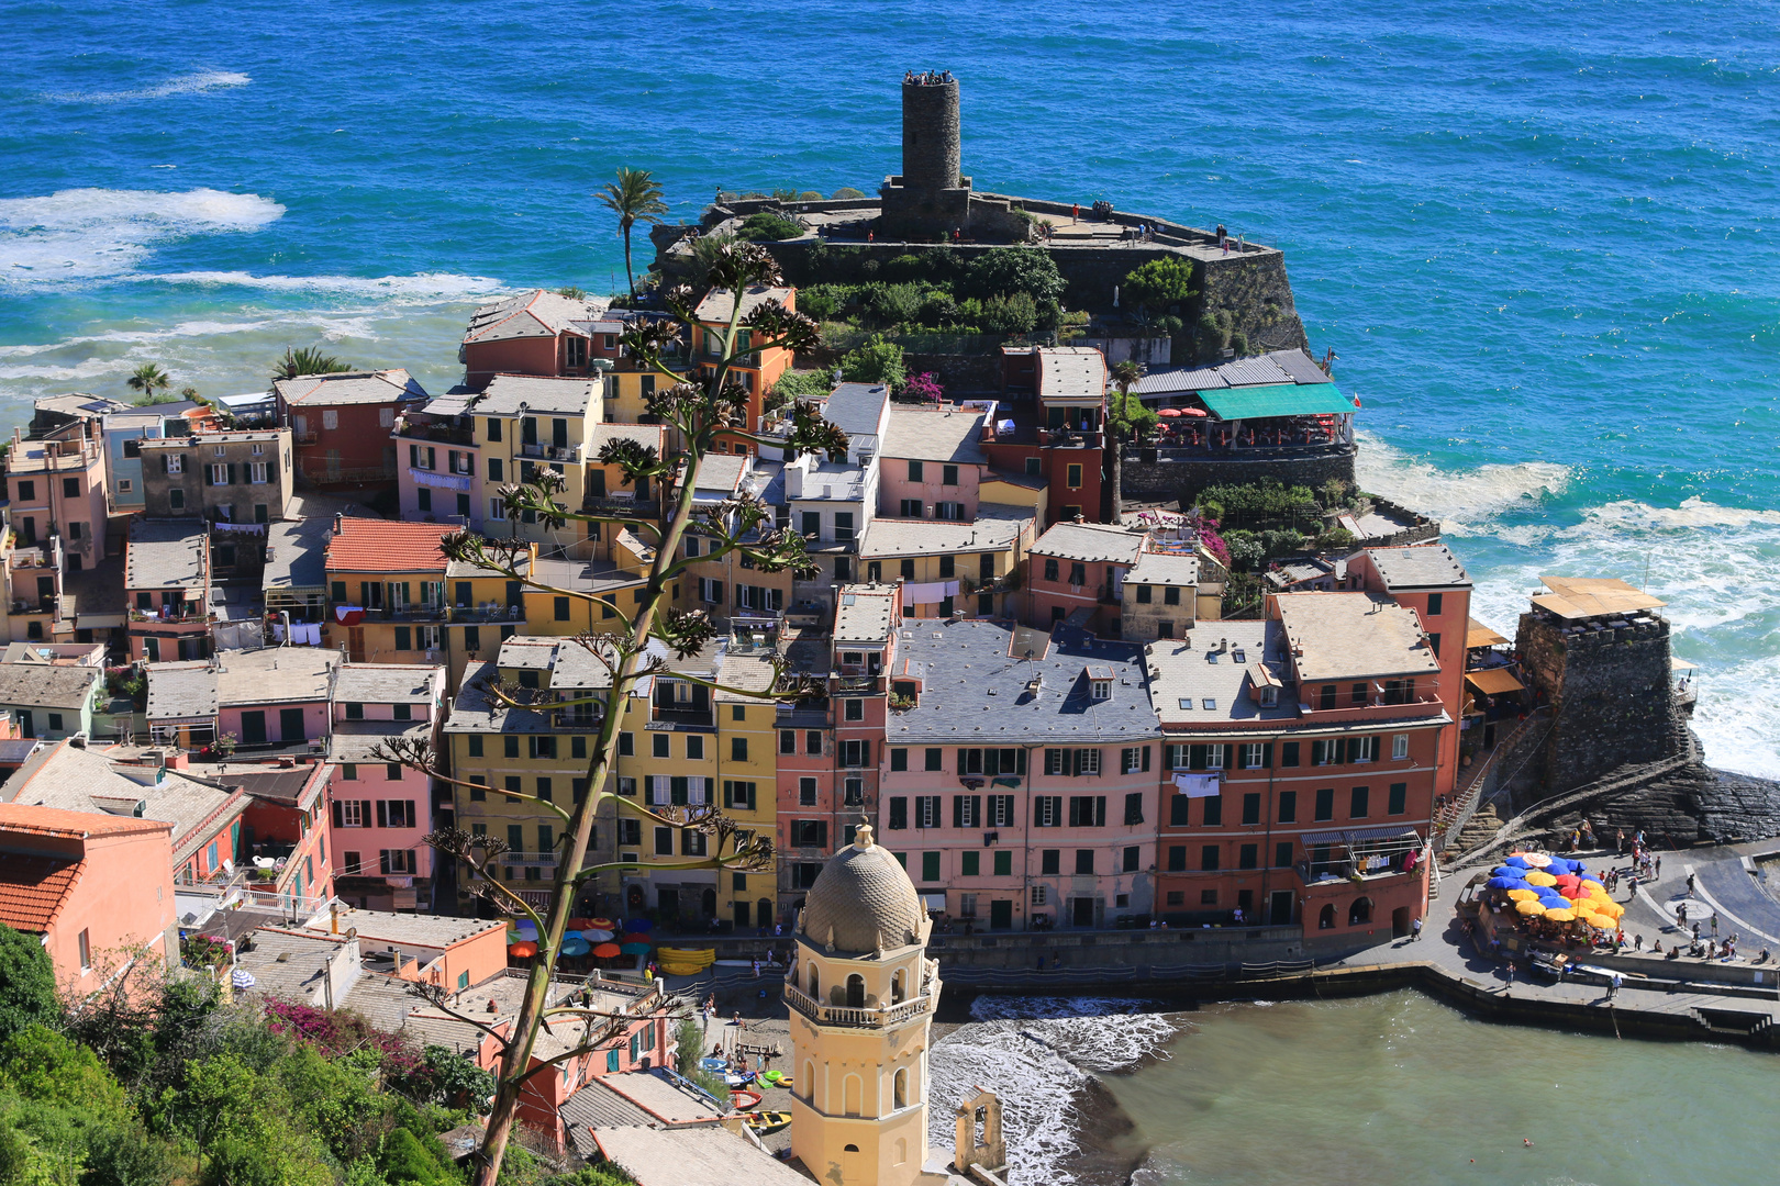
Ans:
{"label": "tall leaning agave flower stalk with dark seed clusters in foreground", "polygon": [[[475,1186],[495,1186],[500,1177],[525,1081],[534,1074],[559,1074],[564,1062],[611,1042],[632,1021],[625,1014],[600,1012],[573,1001],[552,1005],[548,999],[550,969],[555,967],[568,921],[575,914],[577,893],[602,873],[611,875],[618,869],[637,868],[634,862],[587,861],[595,820],[609,811],[618,811],[646,821],[646,827],[703,834],[700,848],[705,855],[673,861],[666,866],[655,864],[653,868],[717,869],[717,877],[721,877],[723,869],[760,871],[771,868],[773,862],[771,837],[760,836],[753,829],[740,829],[717,807],[708,804],[700,807],[646,805],[635,797],[621,797],[616,789],[616,779],[609,777],[618,763],[619,725],[637,681],[669,670],[666,658],[669,653],[691,656],[717,637],[716,624],[705,613],[678,610],[671,601],[675,581],[684,580],[691,565],[682,555],[680,541],[687,525],[692,523],[696,493],[692,482],[678,482],[678,485],[675,482],[678,475],[698,473],[703,459],[719,452],[719,446],[728,450],[746,443],[780,445],[780,441],[760,437],[742,427],[748,391],[733,379],[733,370],[739,359],[760,350],[808,350],[819,343],[815,322],[776,301],[760,302],[742,317],[742,293],[748,288],[778,284],[783,279],[773,256],[758,244],[726,244],[714,251],[710,279],[716,288],[732,293],[733,302],[730,324],[716,331],[717,356],[707,361],[708,370],[696,381],[689,381],[687,375],[668,365],[671,350],[684,340],[684,334],[692,333],[698,325],[694,306],[700,293],[696,290],[684,284],[669,290],[662,301],[671,317],[635,325],[623,336],[625,350],[635,366],[657,375],[657,389],[648,397],[650,416],[675,429],[682,448],[673,455],[660,455],[637,441],[611,441],[600,452],[600,462],[616,466],[625,475],[627,484],[639,478],[662,484],[668,491],[662,500],[662,516],[641,519],[566,507],[557,501],[566,482],[552,469],[538,469],[530,482],[506,485],[500,493],[507,517],[534,516],[546,530],[561,530],[568,523],[603,523],[628,528],[650,542],[653,560],[648,564],[637,599],[630,606],[616,610],[625,633],[582,635],[573,640],[587,653],[593,665],[603,669],[609,686],[552,704],[557,711],[586,706],[595,713],[598,733],[587,747],[586,781],[586,786],[595,789],[580,802],[516,795],[516,798],[529,802],[532,811],[554,816],[561,825],[561,859],[552,880],[539,884],[539,889],[548,893],[550,905],[534,907],[495,877],[493,866],[498,866],[506,853],[506,845],[498,839],[472,836],[450,827],[427,836],[427,843],[447,857],[470,866],[475,873],[475,877],[465,877],[463,884],[473,885],[475,893],[488,896],[500,912],[530,919],[539,935],[538,958],[527,973],[518,1014],[507,1028],[495,1030],[473,1014],[456,1012],[445,987],[415,985],[417,992],[488,1035],[500,1049],[495,1104],[488,1117],[482,1145],[473,1159]],[[744,329],[748,331],[746,345],[739,341]],[[835,457],[846,452],[847,437],[840,429],[824,421],[813,405],[799,402],[792,407],[790,430],[783,446],[799,453]],[[701,505],[698,507],[698,525],[708,539],[698,564],[735,555],[764,573],[789,571],[799,578],[812,578],[817,573],[815,564],[805,555],[803,537],[776,526],[773,507],[762,503],[758,494],[739,493],[721,505]],[[575,530],[582,532],[584,528],[577,526]],[[541,583],[541,578],[529,565],[530,551],[525,541],[491,541],[470,532],[454,532],[440,542],[440,548],[450,560],[472,564],[559,597],[580,599],[589,605],[596,599],[593,592]],[[716,690],[732,690],[714,679],[700,679],[685,672],[676,672],[676,677],[692,679]],[[479,690],[502,708],[525,709],[532,704],[532,692],[516,683],[484,681]],[[808,699],[815,693],[817,685],[789,676],[783,667],[776,672],[773,690],[767,692],[778,699]],[[762,693],[748,692],[746,695],[758,697]],[[404,763],[449,784],[470,786],[443,768],[440,756],[431,750],[425,738],[384,741],[379,745],[377,759]],[[684,845],[676,845],[676,850],[687,852]],[[573,1044],[548,1058],[538,1056],[534,1063],[538,1033],[546,1021],[555,1022],[554,1033],[573,1035]]]}

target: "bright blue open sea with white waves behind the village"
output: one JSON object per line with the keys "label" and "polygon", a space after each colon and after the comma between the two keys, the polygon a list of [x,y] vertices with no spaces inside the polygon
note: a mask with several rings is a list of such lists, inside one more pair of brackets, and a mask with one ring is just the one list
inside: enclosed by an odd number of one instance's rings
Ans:
{"label": "bright blue open sea with white waves behind the village", "polygon": [[[5,5],[0,407],[285,345],[454,381],[468,309],[623,284],[591,192],[874,190],[904,69],[979,188],[1287,252],[1363,484],[1445,519],[1511,633],[1540,573],[1670,603],[1711,761],[1780,775],[1780,9]],[[639,261],[651,254],[639,236]]]}

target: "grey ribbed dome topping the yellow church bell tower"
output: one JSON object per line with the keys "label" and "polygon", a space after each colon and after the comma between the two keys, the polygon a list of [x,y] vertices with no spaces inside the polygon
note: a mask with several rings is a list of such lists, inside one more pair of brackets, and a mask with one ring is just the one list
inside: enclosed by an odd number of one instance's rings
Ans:
{"label": "grey ribbed dome topping the yellow church bell tower", "polygon": [[805,939],[837,951],[906,948],[926,941],[926,926],[915,882],[888,848],[872,843],[870,827],[822,866],[799,919]]}

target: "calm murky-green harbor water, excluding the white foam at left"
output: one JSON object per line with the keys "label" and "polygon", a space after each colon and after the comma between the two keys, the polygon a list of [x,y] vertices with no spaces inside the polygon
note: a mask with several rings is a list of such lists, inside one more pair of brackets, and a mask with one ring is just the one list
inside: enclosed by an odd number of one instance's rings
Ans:
{"label": "calm murky-green harbor water, excluding the white foam at left", "polygon": [[[1773,1177],[1773,1054],[1468,1021],[1413,992],[1216,1006],[1105,1079],[1136,1186],[1705,1186]],[[1524,1142],[1533,1142],[1531,1147]]]}

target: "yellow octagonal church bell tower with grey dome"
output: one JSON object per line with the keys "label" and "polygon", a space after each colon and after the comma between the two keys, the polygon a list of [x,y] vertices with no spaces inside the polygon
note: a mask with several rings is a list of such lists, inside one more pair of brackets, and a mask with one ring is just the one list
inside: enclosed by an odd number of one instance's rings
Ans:
{"label": "yellow octagonal church bell tower with grey dome", "polygon": [[927,1161],[927,1028],[940,966],[933,923],[870,825],[810,885],[790,1010],[790,1149],[829,1186],[943,1182]]}

